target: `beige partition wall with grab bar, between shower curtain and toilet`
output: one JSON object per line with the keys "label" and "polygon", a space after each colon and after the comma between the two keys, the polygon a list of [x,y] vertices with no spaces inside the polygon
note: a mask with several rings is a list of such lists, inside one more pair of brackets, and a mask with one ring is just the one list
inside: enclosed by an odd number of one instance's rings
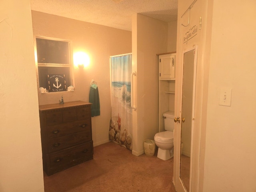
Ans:
{"label": "beige partition wall with grab bar, between shower curtain and toilet", "polygon": [[167,52],[168,24],[141,14],[132,18],[132,70],[135,78],[135,102],[133,111],[133,154],[144,153],[143,141],[154,140],[158,132],[159,82],[158,53]]}

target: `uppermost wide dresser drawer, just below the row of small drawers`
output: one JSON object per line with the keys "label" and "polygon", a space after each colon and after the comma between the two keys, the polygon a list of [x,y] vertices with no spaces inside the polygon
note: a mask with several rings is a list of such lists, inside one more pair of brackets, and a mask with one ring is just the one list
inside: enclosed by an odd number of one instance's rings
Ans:
{"label": "uppermost wide dresser drawer, just below the row of small drawers", "polygon": [[48,139],[57,138],[60,136],[84,131],[91,129],[91,118],[84,120],[62,123],[58,125],[47,126],[47,136]]}

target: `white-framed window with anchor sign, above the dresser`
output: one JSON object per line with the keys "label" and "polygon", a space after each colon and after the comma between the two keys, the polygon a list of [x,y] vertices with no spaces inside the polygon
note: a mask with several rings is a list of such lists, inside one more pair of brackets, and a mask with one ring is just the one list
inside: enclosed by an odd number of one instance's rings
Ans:
{"label": "white-framed window with anchor sign, above the dresser", "polygon": [[48,92],[66,91],[72,85],[70,42],[36,38],[39,87]]}

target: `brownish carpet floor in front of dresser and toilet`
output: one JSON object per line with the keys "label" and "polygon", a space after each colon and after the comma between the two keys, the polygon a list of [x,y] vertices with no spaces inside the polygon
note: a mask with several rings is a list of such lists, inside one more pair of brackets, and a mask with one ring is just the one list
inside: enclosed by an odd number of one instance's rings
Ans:
{"label": "brownish carpet floor in front of dresser and toilet", "polygon": [[161,160],[132,152],[114,142],[94,147],[94,159],[52,176],[45,192],[175,192],[173,158]]}

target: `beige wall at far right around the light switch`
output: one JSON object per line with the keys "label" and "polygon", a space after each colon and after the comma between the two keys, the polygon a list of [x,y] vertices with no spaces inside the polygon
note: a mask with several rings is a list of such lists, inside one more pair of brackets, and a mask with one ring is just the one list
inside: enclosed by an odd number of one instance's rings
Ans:
{"label": "beige wall at far right around the light switch", "polygon": [[[255,10],[213,1],[202,191],[256,191]],[[220,88],[232,88],[231,106],[218,105]]]}

